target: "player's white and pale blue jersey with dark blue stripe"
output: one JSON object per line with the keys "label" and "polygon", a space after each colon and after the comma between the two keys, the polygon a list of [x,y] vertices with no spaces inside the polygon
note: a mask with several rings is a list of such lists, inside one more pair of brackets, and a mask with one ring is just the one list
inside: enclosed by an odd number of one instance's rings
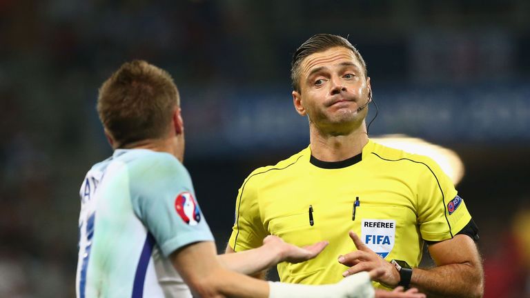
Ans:
{"label": "player's white and pale blue jersey with dark blue stripe", "polygon": [[77,297],[191,297],[168,256],[213,235],[173,155],[115,150],[80,195]]}

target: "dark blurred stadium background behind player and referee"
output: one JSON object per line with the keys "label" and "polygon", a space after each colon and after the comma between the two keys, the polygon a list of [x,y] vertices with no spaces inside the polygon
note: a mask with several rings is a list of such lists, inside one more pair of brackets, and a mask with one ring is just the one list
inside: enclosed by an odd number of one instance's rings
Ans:
{"label": "dark blurred stadium background behind player and referee", "polygon": [[0,297],[75,295],[79,186],[111,154],[97,88],[130,59],[181,90],[185,164],[224,248],[246,175],[308,144],[289,69],[318,32],[364,56],[372,136],[462,159],[486,297],[530,297],[527,0],[0,0]]}

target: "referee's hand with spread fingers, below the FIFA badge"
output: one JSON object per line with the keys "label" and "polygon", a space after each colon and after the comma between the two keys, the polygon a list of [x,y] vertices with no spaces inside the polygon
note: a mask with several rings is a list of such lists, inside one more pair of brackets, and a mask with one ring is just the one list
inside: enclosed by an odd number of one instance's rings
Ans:
{"label": "referee's hand with spread fingers, below the FIFA badge", "polygon": [[382,257],[377,255],[373,250],[366,246],[361,239],[350,231],[349,235],[355,244],[357,250],[350,252],[346,255],[339,256],[339,263],[350,268],[342,275],[347,277],[348,275],[355,274],[361,271],[371,271],[377,268],[381,268],[384,272],[380,276],[373,277],[373,280],[379,281],[381,284],[389,287],[395,287],[400,282],[400,274],[395,270],[395,267],[388,261],[385,261]]}

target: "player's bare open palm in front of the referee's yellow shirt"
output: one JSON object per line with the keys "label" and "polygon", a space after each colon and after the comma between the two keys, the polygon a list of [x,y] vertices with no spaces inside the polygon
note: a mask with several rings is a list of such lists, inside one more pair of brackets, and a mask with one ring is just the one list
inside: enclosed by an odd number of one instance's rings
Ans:
{"label": "player's bare open palm in front of the referee's yellow shirt", "polygon": [[320,241],[310,246],[298,247],[293,244],[288,244],[282,238],[268,235],[263,239],[263,245],[269,247],[272,250],[277,250],[279,256],[279,262],[288,261],[289,263],[300,263],[313,259],[316,257],[326,246],[328,241]]}

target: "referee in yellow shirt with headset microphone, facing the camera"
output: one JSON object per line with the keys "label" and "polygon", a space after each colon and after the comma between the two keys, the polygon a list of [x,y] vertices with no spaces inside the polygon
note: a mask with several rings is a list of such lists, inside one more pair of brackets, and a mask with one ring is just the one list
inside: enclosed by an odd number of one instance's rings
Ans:
{"label": "referee in yellow shirt with headset microphone, facing the camera", "polygon": [[[293,55],[291,77],[310,145],[245,179],[227,252],[257,248],[267,235],[297,246],[324,239],[315,259],[279,264],[280,279],[329,284],[381,267],[376,288],[481,297],[478,228],[451,180],[428,157],[369,139],[372,91],[357,49],[317,34]],[[434,268],[418,268],[424,244]]]}

